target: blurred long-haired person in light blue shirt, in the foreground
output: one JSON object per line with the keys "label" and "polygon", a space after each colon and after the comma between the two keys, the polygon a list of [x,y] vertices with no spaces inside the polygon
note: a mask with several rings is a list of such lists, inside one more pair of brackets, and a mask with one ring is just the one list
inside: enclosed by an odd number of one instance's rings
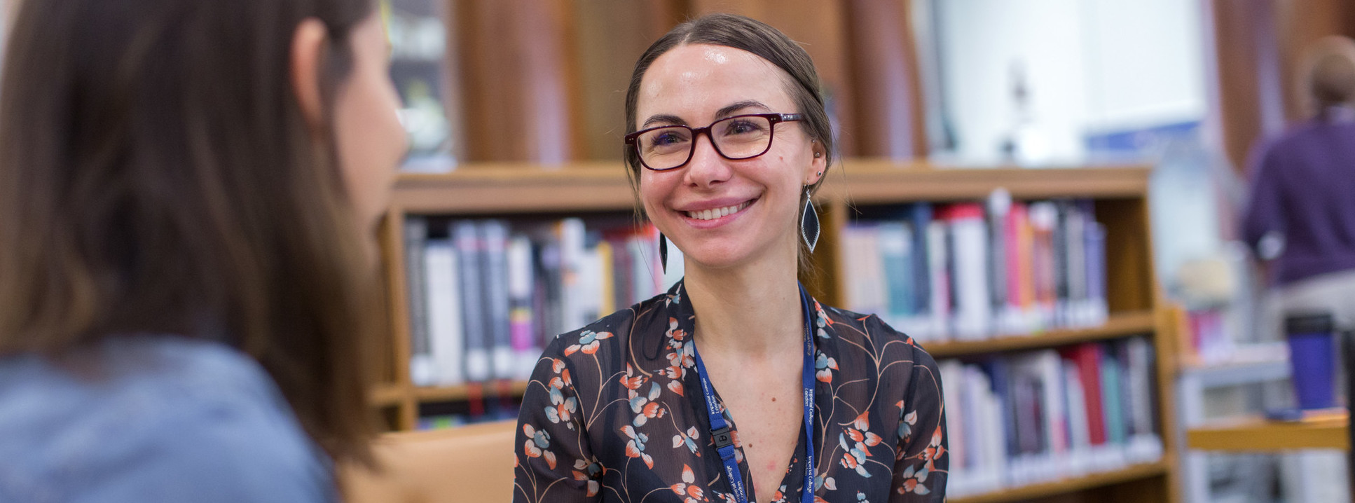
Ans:
{"label": "blurred long-haired person in light blue shirt, in the foreground", "polygon": [[0,502],[332,502],[404,155],[373,0],[30,0],[0,87]]}

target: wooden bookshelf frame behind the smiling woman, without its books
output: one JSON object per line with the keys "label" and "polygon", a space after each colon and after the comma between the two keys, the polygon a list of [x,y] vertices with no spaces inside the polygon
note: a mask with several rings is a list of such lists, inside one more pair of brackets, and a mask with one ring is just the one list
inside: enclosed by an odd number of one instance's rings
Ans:
{"label": "wooden bookshelf frame behind the smiling woman, without its books", "polygon": [[[1096,220],[1107,228],[1110,320],[1100,327],[1050,329],[1033,335],[999,336],[973,342],[924,343],[936,358],[982,355],[1061,347],[1084,342],[1146,335],[1156,350],[1157,419],[1165,457],[1156,464],[1072,477],[1054,483],[1007,488],[995,494],[953,498],[954,502],[1103,502],[1152,500],[1175,503],[1175,395],[1171,386],[1176,366],[1171,316],[1164,309],[1152,263],[1148,228],[1146,167],[969,168],[877,159],[848,159],[835,165],[824,190],[816,195],[822,239],[813,256],[817,274],[802,278],[824,304],[840,305],[844,291],[836,236],[862,207],[916,201],[981,201],[997,188],[1016,199],[1092,198]],[[473,399],[470,386],[419,388],[409,382],[409,321],[404,278],[404,240],[400,229],[406,214],[449,217],[546,217],[633,216],[635,199],[619,161],[584,161],[562,165],[524,163],[474,163],[449,174],[405,174],[382,233],[388,271],[386,286],[393,310],[392,351],[394,382],[373,392],[375,405],[388,411],[393,430],[412,430],[423,404]],[[512,382],[507,393],[520,396],[524,382]],[[486,384],[485,397],[504,393],[500,384]],[[1123,499],[1133,495],[1130,499]]]}

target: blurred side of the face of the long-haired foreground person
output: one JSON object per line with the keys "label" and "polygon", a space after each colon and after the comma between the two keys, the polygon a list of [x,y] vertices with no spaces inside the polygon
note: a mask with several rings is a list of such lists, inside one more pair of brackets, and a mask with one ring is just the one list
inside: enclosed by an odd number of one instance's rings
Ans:
{"label": "blurred side of the face of the long-haired foreground person", "polygon": [[352,71],[335,95],[333,129],[339,167],[363,229],[385,213],[396,168],[405,153],[405,130],[396,110],[400,95],[390,81],[390,46],[373,14],[355,26]]}

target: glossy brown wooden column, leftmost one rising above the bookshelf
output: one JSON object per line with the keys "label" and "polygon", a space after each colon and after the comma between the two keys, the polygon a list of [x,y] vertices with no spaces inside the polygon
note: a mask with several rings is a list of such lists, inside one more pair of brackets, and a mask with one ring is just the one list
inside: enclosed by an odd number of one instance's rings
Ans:
{"label": "glossy brown wooden column, leftmost one rising above the bookshelf", "polygon": [[466,0],[454,8],[466,160],[573,160],[581,136],[566,0]]}

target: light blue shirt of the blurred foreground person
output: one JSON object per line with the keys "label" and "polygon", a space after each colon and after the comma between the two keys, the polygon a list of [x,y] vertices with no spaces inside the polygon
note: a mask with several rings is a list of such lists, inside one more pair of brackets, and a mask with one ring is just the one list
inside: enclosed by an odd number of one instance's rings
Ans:
{"label": "light blue shirt of the blurred foreground person", "polygon": [[0,503],[335,500],[328,457],[225,344],[131,336],[0,358]]}

